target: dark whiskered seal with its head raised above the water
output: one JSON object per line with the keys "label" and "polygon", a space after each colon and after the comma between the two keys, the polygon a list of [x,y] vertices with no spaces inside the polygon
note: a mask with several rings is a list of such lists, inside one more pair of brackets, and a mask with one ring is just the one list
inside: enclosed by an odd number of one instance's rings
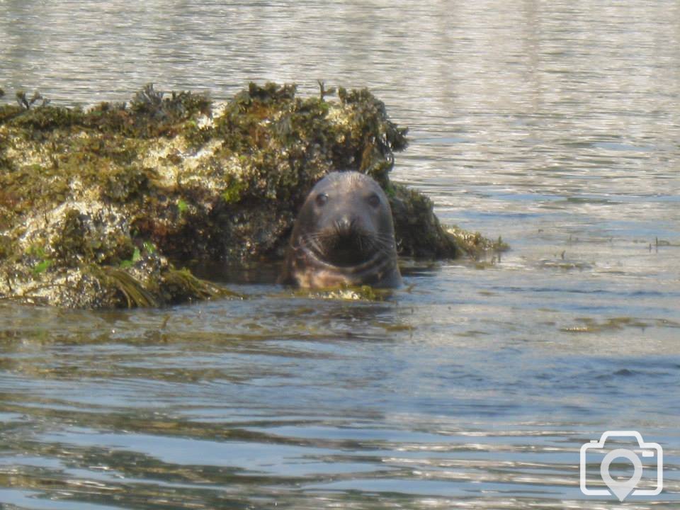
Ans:
{"label": "dark whiskered seal with its head raised above the water", "polygon": [[401,285],[392,210],[377,182],[334,171],[316,183],[297,215],[280,283]]}

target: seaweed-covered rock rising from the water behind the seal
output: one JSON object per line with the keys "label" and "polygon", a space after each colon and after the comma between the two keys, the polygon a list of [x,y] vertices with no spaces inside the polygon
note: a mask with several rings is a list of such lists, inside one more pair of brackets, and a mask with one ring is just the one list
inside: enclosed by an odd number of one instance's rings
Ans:
{"label": "seaweed-covered rock rising from the water behind the seal", "polygon": [[295,86],[250,84],[214,106],[148,85],[130,104],[86,111],[17,98],[0,106],[4,299],[132,307],[225,295],[177,268],[283,256],[297,209],[335,169],[385,188],[401,254],[475,247],[439,225],[430,200],[390,182],[406,130],[366,90],[329,101],[323,88],[300,98]]}

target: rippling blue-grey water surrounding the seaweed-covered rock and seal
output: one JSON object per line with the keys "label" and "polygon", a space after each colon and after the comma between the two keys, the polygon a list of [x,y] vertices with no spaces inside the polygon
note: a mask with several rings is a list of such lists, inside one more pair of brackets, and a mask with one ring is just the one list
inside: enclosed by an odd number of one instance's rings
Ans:
{"label": "rippling blue-grey water surrounding the seaweed-covered rock and seal", "polygon": [[[513,248],[404,261],[385,302],[254,278],[166,310],[0,305],[4,507],[678,507],[679,4],[0,9],[8,96],[369,86],[411,128],[393,178]],[[662,494],[580,492],[579,448],[612,429],[663,447]]]}

